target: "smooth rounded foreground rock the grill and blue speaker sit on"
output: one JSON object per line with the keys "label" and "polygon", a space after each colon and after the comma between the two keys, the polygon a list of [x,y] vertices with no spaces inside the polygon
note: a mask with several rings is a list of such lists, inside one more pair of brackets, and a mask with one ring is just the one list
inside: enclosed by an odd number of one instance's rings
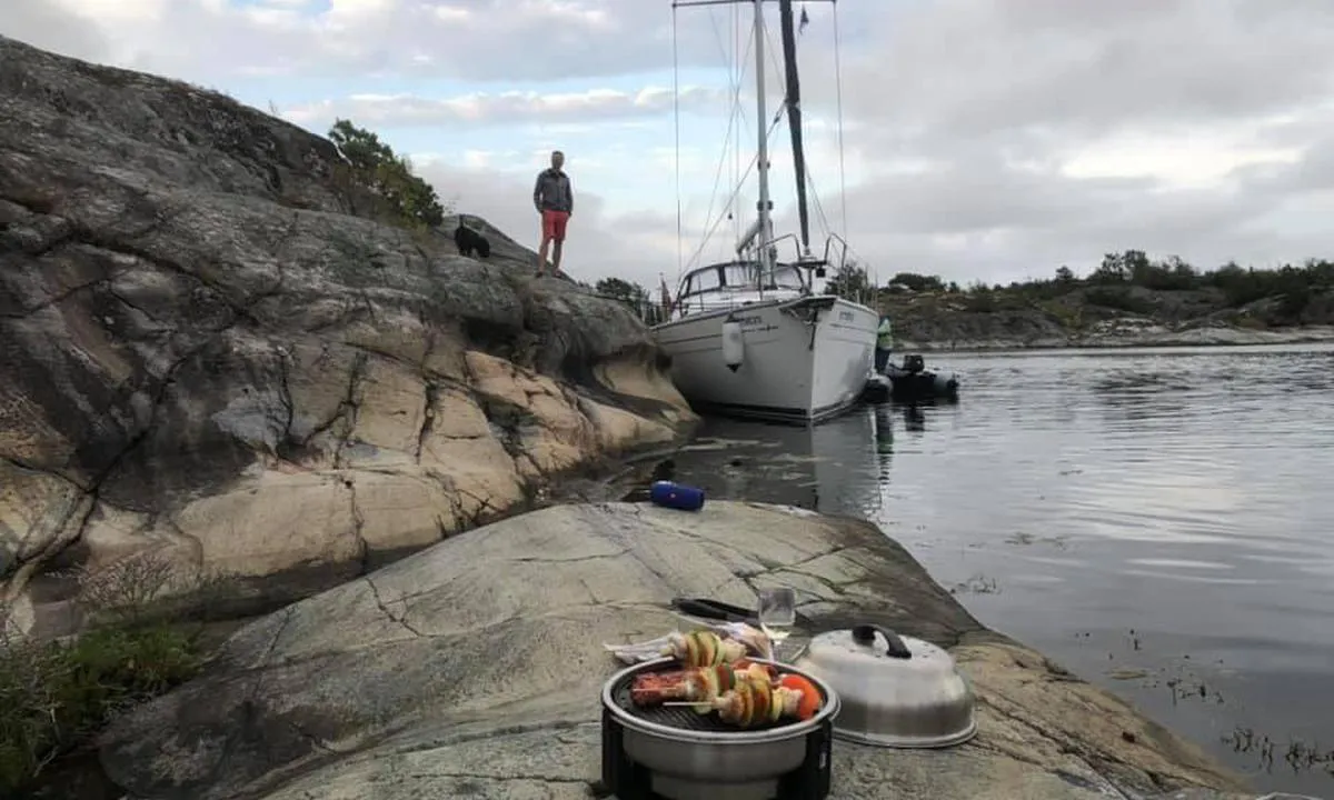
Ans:
{"label": "smooth rounded foreground rock the grill and blue speaker sit on", "polygon": [[[979,733],[835,744],[835,797],[1149,797],[1239,779],[1130,705],[987,631],[870,524],[708,503],[562,505],[436,544],[240,629],[208,672],[115,724],[108,775],[152,800],[587,797],[602,643],[671,631],[676,596],[799,589],[814,625],[950,648]],[[1109,792],[1121,795],[1109,795]]]}

